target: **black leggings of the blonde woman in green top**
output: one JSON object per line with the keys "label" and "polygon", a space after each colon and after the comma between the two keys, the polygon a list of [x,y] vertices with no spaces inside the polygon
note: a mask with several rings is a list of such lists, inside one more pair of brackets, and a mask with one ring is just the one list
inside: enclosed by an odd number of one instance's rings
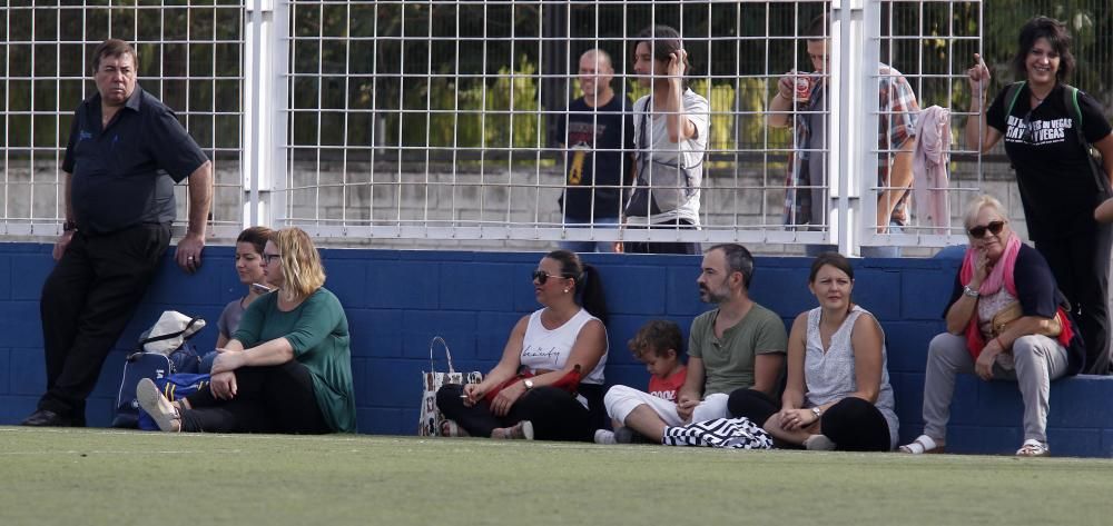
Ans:
{"label": "black leggings of the blonde woman in green top", "polygon": [[266,367],[240,367],[236,397],[221,400],[206,385],[186,397],[183,431],[283,433],[319,435],[333,430],[313,394],[313,375],[297,360]]}

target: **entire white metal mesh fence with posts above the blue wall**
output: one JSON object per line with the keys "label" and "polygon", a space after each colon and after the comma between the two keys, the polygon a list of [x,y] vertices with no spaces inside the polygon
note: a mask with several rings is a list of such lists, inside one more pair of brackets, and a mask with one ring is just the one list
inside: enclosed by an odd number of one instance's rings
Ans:
{"label": "entire white metal mesh fence with posts above the blue wall", "polygon": [[[1097,0],[874,0],[834,8],[809,1],[106,0],[9,1],[4,8],[0,224],[9,238],[58,229],[59,166],[72,108],[92,92],[88,53],[109,37],[136,42],[140,85],[176,109],[213,157],[213,219],[224,239],[245,224],[266,222],[297,225],[343,246],[739,240],[766,252],[838,242],[918,254],[912,247],[961,239],[956,210],[973,192],[996,193],[1014,217],[1022,215],[999,150],[978,156],[957,141],[945,225],[925,221],[915,200],[898,206],[903,188],[875,176],[900,151],[884,137],[902,116],[885,95],[887,83],[907,81],[917,108],[951,110],[947,127],[956,135],[966,118],[973,53],[987,57],[998,85],[1012,80],[1018,28],[1046,13],[1075,36],[1080,66],[1072,83],[1113,107],[1113,13]],[[830,64],[818,71],[807,33],[823,12]],[[654,24],[679,30],[687,80],[707,101],[699,229],[609,225],[622,215],[630,168],[639,162],[638,148],[624,143],[633,130],[623,125],[618,143],[592,145],[585,153],[569,140],[571,128],[585,129],[578,117],[598,131],[603,116],[571,106],[584,95],[582,54],[607,53],[613,97],[627,100],[623,115],[633,116],[633,102],[661,78],[651,72],[644,82],[633,60],[639,32]],[[892,69],[875,71],[874,62]],[[775,110],[777,85],[789,71],[828,87],[824,103]],[[874,90],[881,93],[876,100],[865,96]],[[778,113],[787,126],[770,126]],[[828,141],[802,142],[800,123],[817,117],[829,119]],[[573,176],[584,167],[595,171],[608,153],[619,153],[618,179],[589,180],[591,217],[570,217],[570,196],[585,185]],[[794,180],[791,163],[801,153],[829,167]],[[185,189],[178,191],[184,208]],[[608,192],[620,200],[597,198]],[[794,199],[805,193],[819,196],[806,225],[794,216]],[[899,211],[888,215],[889,207]],[[903,217],[903,227],[878,232],[890,216]],[[178,217],[184,220],[184,209]]]}

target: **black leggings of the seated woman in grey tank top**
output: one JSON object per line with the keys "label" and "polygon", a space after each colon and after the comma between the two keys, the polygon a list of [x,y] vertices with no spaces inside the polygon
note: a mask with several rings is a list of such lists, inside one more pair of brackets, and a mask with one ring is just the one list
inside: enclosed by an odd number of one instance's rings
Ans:
{"label": "black leggings of the seated woman in grey tank top", "polygon": [[[732,417],[746,417],[765,427],[780,408],[769,395],[754,389],[738,389],[727,399]],[[848,396],[824,411],[819,431],[835,443],[840,451],[888,451],[889,424],[873,404]]]}

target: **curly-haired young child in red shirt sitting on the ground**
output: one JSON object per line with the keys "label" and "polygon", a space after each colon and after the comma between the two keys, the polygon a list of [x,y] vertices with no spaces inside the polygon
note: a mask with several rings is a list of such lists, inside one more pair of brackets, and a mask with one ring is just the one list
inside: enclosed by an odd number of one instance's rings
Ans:
{"label": "curly-haired young child in red shirt sitting on the ground", "polygon": [[[688,367],[680,361],[683,337],[680,327],[669,320],[654,319],[638,329],[638,334],[627,344],[630,351],[649,371],[649,394],[669,401],[677,401],[677,393],[684,385]],[[639,436],[612,421],[614,431],[595,430],[595,444],[630,443]]]}

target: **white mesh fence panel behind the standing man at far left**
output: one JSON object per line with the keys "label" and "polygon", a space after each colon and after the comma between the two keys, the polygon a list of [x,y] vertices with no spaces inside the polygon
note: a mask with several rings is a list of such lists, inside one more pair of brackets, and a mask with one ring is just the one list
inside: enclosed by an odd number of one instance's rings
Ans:
{"label": "white mesh fence panel behind the standing man at far left", "polygon": [[[2,225],[51,236],[65,217],[60,171],[73,109],[93,93],[93,48],[132,42],[144,90],[170,108],[216,167],[214,225],[243,222],[244,8],[236,1],[4,2],[0,86]],[[185,218],[185,188],[178,190]]]}

